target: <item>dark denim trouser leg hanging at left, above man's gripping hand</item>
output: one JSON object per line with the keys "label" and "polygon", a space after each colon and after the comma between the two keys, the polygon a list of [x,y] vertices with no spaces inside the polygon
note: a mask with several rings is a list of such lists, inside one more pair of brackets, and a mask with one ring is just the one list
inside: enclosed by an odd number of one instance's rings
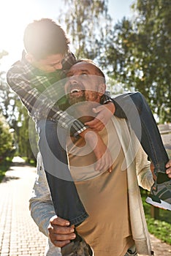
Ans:
{"label": "dark denim trouser leg hanging at left, above man's gripping hand", "polygon": [[80,225],[88,214],[80,201],[68,168],[66,130],[50,120],[39,121],[37,130],[39,150],[56,215],[68,219],[70,225]]}

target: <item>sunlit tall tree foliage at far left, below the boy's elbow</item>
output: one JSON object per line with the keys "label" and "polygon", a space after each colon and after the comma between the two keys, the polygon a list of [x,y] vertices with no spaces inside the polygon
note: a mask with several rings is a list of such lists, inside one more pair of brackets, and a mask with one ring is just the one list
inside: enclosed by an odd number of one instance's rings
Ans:
{"label": "sunlit tall tree foliage at far left, below the boy's elbow", "polygon": [[[0,53],[0,59],[7,55],[7,52],[3,51]],[[19,97],[9,89],[6,81],[5,72],[0,72],[0,113],[4,116],[3,120],[9,124],[9,127],[14,129],[14,140],[15,146],[18,150],[18,154],[22,157],[26,157],[29,160],[35,159],[37,154],[37,135],[34,128],[34,122],[29,122],[28,112],[23,104],[20,102]],[[28,132],[29,124],[29,132]],[[8,127],[8,129],[9,129]],[[1,135],[2,136],[2,135]],[[4,143],[7,137],[7,130],[4,133],[4,137],[1,138],[0,143]],[[10,138],[10,136],[9,136]],[[31,140],[31,141],[30,141]],[[30,145],[31,143],[31,145]],[[1,144],[0,144],[1,146]],[[9,146],[9,143],[4,143],[3,148]],[[34,152],[33,152],[33,151]],[[3,149],[4,151],[4,149]],[[1,151],[0,151],[1,152]],[[5,153],[6,154],[6,153]]]}

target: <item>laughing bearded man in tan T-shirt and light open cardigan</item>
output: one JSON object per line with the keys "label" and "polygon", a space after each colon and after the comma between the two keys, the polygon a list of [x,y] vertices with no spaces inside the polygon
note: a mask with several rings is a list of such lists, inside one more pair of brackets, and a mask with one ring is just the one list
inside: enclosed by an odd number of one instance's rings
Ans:
{"label": "laughing bearded man in tan T-shirt and light open cardigan", "polygon": [[[96,65],[88,61],[78,62],[69,70],[69,81],[66,83],[66,94],[72,98],[93,101],[98,105],[105,91],[104,76]],[[76,76],[75,76],[76,75]],[[74,76],[74,77],[73,77]],[[84,78],[81,78],[83,77]],[[94,76],[92,79],[91,76]],[[90,83],[91,81],[91,83]],[[74,95],[75,94],[75,95]],[[73,97],[72,97],[73,96]],[[69,107],[69,111],[81,110],[80,118],[93,116],[82,113],[82,108]],[[87,102],[86,102],[87,105]],[[131,135],[131,137],[130,137]],[[91,133],[96,139],[96,132]],[[153,177],[147,156],[134,132],[125,120],[111,118],[100,132],[105,146],[113,158],[113,171],[96,171],[94,151],[80,138],[71,140],[68,137],[67,147],[69,166],[75,180],[77,191],[88,212],[88,219],[74,229],[67,219],[56,217],[44,172],[41,158],[38,159],[39,178],[34,184],[34,194],[30,200],[31,216],[51,243],[47,255],[77,255],[74,245],[75,230],[86,239],[98,256],[151,255],[151,245],[140,199],[140,186],[150,189]],[[134,159],[135,157],[135,159]],[[64,202],[65,203],[65,202]],[[67,254],[67,248],[73,251]],[[135,247],[137,252],[135,252]],[[65,254],[66,253],[66,254]]]}

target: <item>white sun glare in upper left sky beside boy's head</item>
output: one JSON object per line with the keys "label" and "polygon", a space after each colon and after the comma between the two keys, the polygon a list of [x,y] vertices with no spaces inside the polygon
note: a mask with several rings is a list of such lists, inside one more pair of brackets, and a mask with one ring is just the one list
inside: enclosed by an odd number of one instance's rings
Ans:
{"label": "white sun glare in upper left sky beside boy's head", "polygon": [[[60,1],[55,1],[56,6],[60,6]],[[54,12],[57,15],[56,8],[52,11],[50,6],[46,0],[0,0],[0,52],[6,50],[9,53],[1,59],[4,70],[20,59],[27,24],[40,18],[53,18]]]}

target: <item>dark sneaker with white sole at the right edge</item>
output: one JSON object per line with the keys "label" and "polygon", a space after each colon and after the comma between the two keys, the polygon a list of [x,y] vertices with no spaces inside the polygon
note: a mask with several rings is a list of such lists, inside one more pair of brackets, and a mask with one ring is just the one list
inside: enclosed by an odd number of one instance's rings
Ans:
{"label": "dark sneaker with white sole at the right edge", "polygon": [[161,184],[157,184],[155,181],[151,187],[151,194],[146,198],[145,202],[171,211],[171,181],[165,181]]}

